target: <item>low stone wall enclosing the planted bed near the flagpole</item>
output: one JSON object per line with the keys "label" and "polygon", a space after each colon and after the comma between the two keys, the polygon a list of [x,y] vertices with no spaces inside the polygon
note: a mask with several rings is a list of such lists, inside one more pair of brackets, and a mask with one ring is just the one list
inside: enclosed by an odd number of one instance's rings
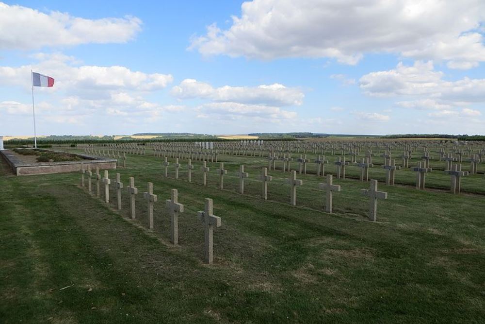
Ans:
{"label": "low stone wall enclosing the planted bed near the flagpole", "polygon": [[116,169],[115,159],[100,159],[96,156],[84,154],[76,154],[85,159],[82,161],[42,163],[24,163],[8,150],[0,151],[0,154],[5,161],[7,161],[16,175],[74,172],[81,171],[81,166],[87,168],[87,165],[91,166],[91,170],[95,170],[96,168],[99,168],[100,170]]}

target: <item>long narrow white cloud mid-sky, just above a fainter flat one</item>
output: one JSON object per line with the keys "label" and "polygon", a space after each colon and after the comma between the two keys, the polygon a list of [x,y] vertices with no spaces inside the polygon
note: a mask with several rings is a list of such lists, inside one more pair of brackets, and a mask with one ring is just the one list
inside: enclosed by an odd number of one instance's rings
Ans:
{"label": "long narrow white cloud mid-sky, just above a fainter flat one", "polygon": [[201,98],[217,102],[262,103],[268,105],[301,105],[305,95],[298,88],[280,84],[212,87],[194,79],[185,79],[172,88],[171,94],[180,99]]}

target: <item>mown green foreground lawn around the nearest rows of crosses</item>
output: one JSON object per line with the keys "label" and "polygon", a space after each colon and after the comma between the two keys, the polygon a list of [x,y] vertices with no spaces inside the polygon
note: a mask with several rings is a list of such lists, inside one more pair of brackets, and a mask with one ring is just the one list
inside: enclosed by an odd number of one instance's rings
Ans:
{"label": "mown green foreground lawn around the nearest rows of crosses", "polygon": [[[369,183],[334,178],[342,191],[326,214],[323,178],[314,174],[297,176],[304,185],[292,207],[289,173],[279,170],[268,172],[269,201],[259,199],[263,158],[221,156],[225,190],[217,188],[216,163],[208,163],[203,187],[200,162],[189,184],[185,160],[178,180],[173,168],[163,177],[161,160],[129,155],[127,168],[110,171],[112,182],[120,172],[125,184],[120,212],[80,188],[79,173],[15,177],[0,164],[1,323],[485,322],[483,174],[464,179],[469,192],[451,195],[440,189],[449,177],[433,174],[436,189],[419,191],[400,173],[403,185],[385,186],[383,171],[373,170],[388,199],[379,200],[372,223],[360,192]],[[245,195],[235,192],[242,163],[250,174]],[[139,188],[135,221],[129,176]],[[148,181],[158,195],[153,231]],[[164,207],[171,188],[185,205],[178,247],[169,243]],[[202,263],[196,217],[204,198],[222,218],[211,266]]]}

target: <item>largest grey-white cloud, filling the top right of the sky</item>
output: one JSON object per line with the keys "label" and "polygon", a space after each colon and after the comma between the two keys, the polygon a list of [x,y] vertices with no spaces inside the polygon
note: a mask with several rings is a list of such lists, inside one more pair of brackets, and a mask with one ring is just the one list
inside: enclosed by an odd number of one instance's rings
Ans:
{"label": "largest grey-white cloud, filling the top right of the sky", "polygon": [[483,0],[253,0],[221,30],[193,37],[204,55],[329,57],[356,64],[365,53],[396,53],[472,68],[485,60]]}

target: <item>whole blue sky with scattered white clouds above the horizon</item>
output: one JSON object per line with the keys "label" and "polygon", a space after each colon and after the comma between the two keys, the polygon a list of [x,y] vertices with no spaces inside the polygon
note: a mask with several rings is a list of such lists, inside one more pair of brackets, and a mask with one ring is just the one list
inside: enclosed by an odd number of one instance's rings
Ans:
{"label": "whole blue sky with scattered white clouds above the horizon", "polygon": [[388,2],[6,1],[0,133],[484,134],[485,4]]}

